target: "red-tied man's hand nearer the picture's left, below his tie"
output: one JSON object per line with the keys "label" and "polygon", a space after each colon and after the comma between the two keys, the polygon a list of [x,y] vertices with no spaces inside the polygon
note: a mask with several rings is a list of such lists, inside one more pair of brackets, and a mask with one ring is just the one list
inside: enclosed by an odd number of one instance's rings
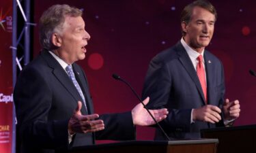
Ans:
{"label": "red-tied man's hand nearer the picture's left, below his tie", "polygon": [[193,109],[193,121],[199,120],[203,122],[216,123],[221,120],[221,109],[215,105],[205,105],[203,107]]}

